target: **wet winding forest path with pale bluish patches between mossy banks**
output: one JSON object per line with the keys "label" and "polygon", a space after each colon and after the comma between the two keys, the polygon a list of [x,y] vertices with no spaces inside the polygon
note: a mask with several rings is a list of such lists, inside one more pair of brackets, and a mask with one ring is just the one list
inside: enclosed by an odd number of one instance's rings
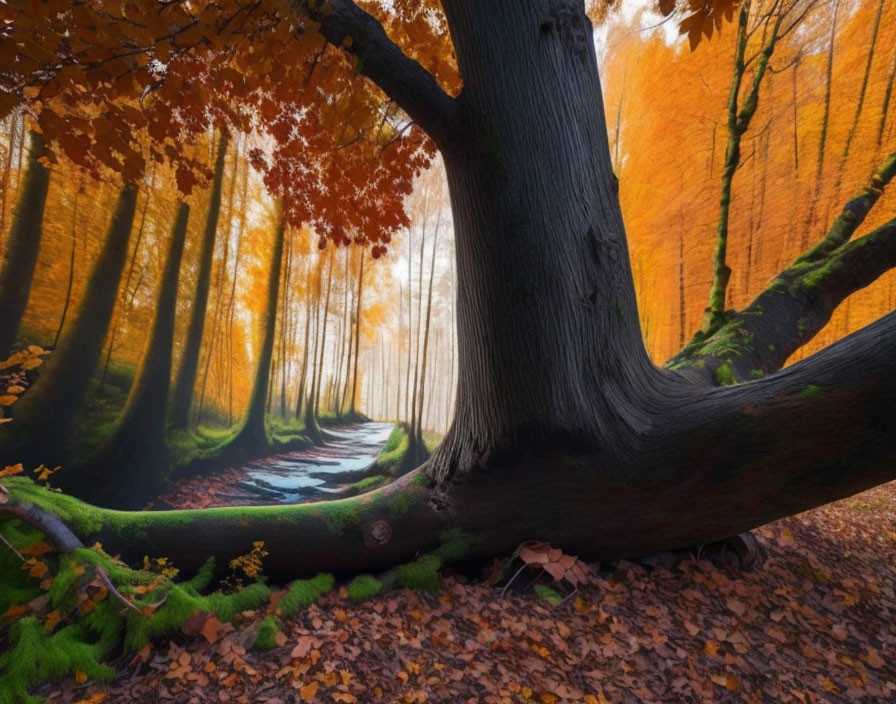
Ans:
{"label": "wet winding forest path with pale bluish patches between mossy banks", "polygon": [[158,508],[292,504],[340,494],[366,476],[393,428],[376,422],[323,428],[323,445],[175,482],[159,497]]}

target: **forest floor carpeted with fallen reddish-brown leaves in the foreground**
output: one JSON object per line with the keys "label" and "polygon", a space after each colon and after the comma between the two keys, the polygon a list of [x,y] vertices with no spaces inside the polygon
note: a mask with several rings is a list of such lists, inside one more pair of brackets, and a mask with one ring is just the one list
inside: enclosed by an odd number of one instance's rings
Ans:
{"label": "forest floor carpeted with fallen reddish-brown leaves in the foreground", "polygon": [[193,621],[194,635],[120,658],[111,683],[43,691],[48,704],[896,701],[896,483],[756,535],[757,571],[623,561],[559,607],[461,575],[433,598],[351,604],[337,589],[273,650],[247,650],[260,613]]}

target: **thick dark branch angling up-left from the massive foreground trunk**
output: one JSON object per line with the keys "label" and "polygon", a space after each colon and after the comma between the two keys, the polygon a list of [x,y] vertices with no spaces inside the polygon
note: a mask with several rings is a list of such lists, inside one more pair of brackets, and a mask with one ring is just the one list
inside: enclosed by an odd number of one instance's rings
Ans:
{"label": "thick dark branch angling up-left from the massive foreground trunk", "polygon": [[439,145],[450,136],[457,103],[419,63],[389,39],[382,24],[352,0],[295,0],[333,46],[355,57],[359,73],[392,98]]}

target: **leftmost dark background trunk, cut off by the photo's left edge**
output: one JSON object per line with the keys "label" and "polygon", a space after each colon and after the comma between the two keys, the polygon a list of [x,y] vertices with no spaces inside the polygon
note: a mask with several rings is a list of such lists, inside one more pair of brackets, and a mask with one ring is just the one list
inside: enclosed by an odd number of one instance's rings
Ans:
{"label": "leftmost dark background trunk, cut off by the photo's left edge", "polygon": [[19,189],[12,226],[0,268],[0,358],[5,359],[16,340],[43,234],[44,207],[50,186],[50,171],[38,160],[43,156],[44,140],[31,133],[28,170]]}

